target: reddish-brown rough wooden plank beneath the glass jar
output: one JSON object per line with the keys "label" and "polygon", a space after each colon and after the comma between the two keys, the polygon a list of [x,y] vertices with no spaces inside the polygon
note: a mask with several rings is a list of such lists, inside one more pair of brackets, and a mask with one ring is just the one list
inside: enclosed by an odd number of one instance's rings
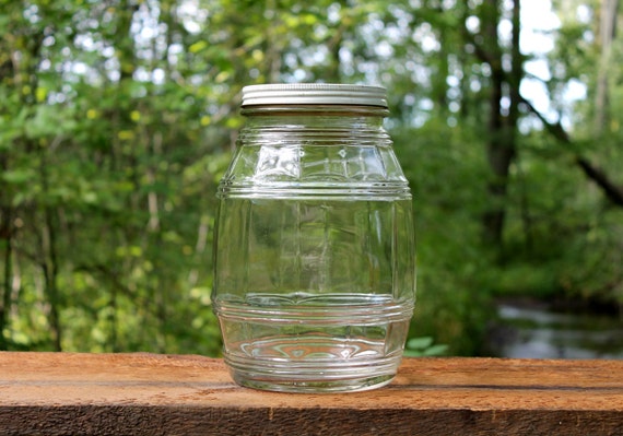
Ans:
{"label": "reddish-brown rough wooden plank beneath the glass jar", "polygon": [[200,356],[5,352],[0,434],[623,435],[623,362],[408,358],[385,388],[301,394]]}

